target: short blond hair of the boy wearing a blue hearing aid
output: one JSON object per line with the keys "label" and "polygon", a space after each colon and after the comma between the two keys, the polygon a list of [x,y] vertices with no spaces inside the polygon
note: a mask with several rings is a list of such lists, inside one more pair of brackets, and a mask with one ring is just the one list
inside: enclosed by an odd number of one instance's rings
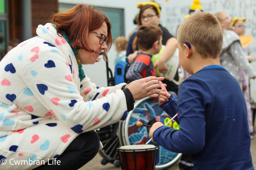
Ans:
{"label": "short blond hair of the boy wearing a blue hearing aid", "polygon": [[203,57],[215,59],[222,49],[223,31],[217,18],[210,13],[197,12],[186,19],[178,29],[178,43],[193,45]]}

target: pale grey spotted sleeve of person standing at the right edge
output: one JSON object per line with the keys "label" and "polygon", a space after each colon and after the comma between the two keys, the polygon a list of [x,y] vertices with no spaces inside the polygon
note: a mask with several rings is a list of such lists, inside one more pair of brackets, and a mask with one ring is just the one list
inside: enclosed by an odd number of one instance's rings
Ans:
{"label": "pale grey spotted sleeve of person standing at the right edge", "polygon": [[251,64],[248,62],[248,59],[246,58],[246,55],[244,54],[239,41],[235,41],[233,44],[231,44],[229,52],[234,57],[236,63],[239,64],[241,68],[247,73],[249,78],[255,78],[256,73],[253,70]]}

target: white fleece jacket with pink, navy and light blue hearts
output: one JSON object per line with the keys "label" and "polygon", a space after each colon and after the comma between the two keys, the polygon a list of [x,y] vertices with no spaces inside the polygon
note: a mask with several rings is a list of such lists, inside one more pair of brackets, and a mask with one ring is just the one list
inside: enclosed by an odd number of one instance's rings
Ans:
{"label": "white fleece jacket with pink, navy and light blue hearts", "polygon": [[80,133],[127,116],[124,84],[99,88],[87,76],[80,82],[67,41],[50,23],[39,25],[37,34],[0,62],[0,160],[6,159],[0,169],[40,166]]}

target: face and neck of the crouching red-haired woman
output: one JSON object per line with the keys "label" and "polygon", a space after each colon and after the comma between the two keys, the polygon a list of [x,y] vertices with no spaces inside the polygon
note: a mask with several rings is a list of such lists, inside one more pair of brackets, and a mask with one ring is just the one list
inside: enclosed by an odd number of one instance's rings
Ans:
{"label": "face and neck of the crouching red-haired woman", "polygon": [[[104,34],[106,37],[108,37],[108,26],[106,22],[103,22],[101,27],[92,31]],[[89,52],[84,49],[77,50],[77,54],[81,64],[94,64],[99,57],[101,51],[105,51],[108,49],[106,42],[100,44],[100,38],[100,34],[89,32],[88,44],[93,52]]]}

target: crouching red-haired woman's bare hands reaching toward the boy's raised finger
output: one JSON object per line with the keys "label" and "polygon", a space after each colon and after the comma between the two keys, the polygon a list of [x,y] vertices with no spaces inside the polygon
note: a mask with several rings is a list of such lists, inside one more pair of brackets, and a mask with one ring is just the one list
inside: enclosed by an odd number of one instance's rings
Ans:
{"label": "crouching red-haired woman's bare hands reaching toward the boy's raised finger", "polygon": [[158,97],[158,94],[161,89],[157,89],[160,87],[158,81],[163,80],[164,77],[146,77],[138,80],[134,80],[127,84],[125,88],[128,88],[132,94],[133,100],[140,100],[145,97]]}

